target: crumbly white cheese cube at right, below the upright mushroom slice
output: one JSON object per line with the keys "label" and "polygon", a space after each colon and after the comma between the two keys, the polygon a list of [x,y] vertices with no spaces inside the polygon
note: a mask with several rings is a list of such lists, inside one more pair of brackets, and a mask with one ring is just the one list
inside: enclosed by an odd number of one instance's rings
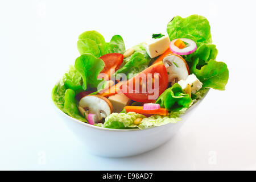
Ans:
{"label": "crumbly white cheese cube at right, below the upright mushroom slice", "polygon": [[194,74],[189,75],[186,80],[178,81],[178,84],[181,86],[182,89],[185,89],[187,84],[191,85],[192,93],[196,93],[198,90],[202,88],[203,85]]}

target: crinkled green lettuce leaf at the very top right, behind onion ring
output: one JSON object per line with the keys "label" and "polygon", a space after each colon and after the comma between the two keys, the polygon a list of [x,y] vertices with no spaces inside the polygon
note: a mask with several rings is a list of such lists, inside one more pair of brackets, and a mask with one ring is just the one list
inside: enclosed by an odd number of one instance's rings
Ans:
{"label": "crinkled green lettuce leaf at the very top right, behind onion ring", "polygon": [[210,24],[204,16],[191,15],[187,18],[175,16],[167,24],[167,33],[170,40],[187,38],[196,43],[212,43]]}

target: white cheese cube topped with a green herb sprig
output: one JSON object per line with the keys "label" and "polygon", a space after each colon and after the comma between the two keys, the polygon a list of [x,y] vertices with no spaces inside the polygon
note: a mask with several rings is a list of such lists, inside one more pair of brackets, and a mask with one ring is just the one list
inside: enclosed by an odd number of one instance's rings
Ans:
{"label": "white cheese cube topped with a green herb sprig", "polygon": [[162,36],[159,39],[148,39],[144,42],[144,47],[147,51],[148,56],[154,58],[156,56],[162,55],[170,45],[170,39],[167,35]]}

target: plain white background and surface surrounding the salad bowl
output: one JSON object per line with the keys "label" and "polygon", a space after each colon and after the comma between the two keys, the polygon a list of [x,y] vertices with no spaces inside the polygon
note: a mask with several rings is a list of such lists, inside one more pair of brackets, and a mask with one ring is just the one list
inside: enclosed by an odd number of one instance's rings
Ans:
{"label": "plain white background and surface surrounding the salad bowl", "polygon": [[[1,1],[0,169],[256,169],[255,1]],[[175,16],[204,15],[225,91],[212,90],[170,142],[131,158],[90,155],[51,101],[77,37],[119,34],[126,48]],[[92,136],[93,137],[93,136]],[[110,146],[111,147],[111,146]],[[45,160],[44,160],[45,159]]]}

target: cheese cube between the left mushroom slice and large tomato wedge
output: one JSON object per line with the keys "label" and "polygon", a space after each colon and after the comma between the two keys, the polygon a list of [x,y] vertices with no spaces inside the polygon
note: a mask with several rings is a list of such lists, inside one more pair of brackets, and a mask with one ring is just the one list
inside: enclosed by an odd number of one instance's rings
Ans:
{"label": "cheese cube between the left mushroom slice and large tomato wedge", "polygon": [[108,99],[113,106],[114,113],[120,113],[123,110],[123,107],[129,105],[131,102],[130,98],[126,97],[123,93],[115,94]]}

